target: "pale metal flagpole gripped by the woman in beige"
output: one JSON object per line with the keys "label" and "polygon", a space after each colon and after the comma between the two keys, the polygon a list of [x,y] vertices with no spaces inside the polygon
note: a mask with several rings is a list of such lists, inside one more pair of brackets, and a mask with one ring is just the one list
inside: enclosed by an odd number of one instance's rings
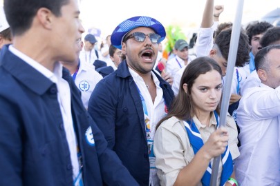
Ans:
{"label": "pale metal flagpole gripped by the woman in beige", "polygon": [[[232,25],[232,36],[230,38],[230,52],[227,59],[227,74],[225,78],[225,84],[223,86],[223,99],[221,103],[221,114],[220,114],[220,125],[219,127],[225,126],[227,118],[227,110],[230,103],[230,95],[232,90],[232,76],[234,73],[234,66],[236,61],[237,48],[239,46],[239,37],[241,32],[241,20],[243,13],[244,0],[239,0],[236,7],[236,14],[234,23]],[[218,167],[221,161],[221,155],[217,156],[213,160],[212,174],[210,185],[216,186],[218,178]]]}

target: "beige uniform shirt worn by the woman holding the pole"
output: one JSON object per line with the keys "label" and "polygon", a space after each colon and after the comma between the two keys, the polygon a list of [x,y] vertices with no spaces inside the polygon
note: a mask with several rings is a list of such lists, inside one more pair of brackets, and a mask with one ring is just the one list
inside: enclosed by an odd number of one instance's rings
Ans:
{"label": "beige uniform shirt worn by the woman holding the pole", "polygon": [[[212,114],[209,127],[201,124],[196,116],[193,119],[203,138],[203,143],[205,143],[210,134],[216,130],[216,118]],[[228,141],[229,149],[232,159],[235,159],[239,156],[236,123],[229,114],[227,115],[226,122],[227,125],[225,127],[230,136]],[[153,152],[156,155],[156,168],[158,169],[160,185],[174,185],[180,170],[187,166],[192,161],[192,158],[194,158],[194,150],[189,143],[184,123],[185,121],[171,117],[162,122],[158,130],[156,130]],[[218,178],[221,177],[221,162],[219,165]],[[217,183],[217,185],[219,184]]]}

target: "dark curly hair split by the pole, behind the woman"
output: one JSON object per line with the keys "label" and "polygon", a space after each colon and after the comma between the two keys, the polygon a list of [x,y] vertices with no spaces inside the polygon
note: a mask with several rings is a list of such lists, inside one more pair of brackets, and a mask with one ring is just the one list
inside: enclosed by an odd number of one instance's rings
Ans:
{"label": "dark curly hair split by the pole, behind the woman", "polygon": [[[228,59],[230,52],[230,39],[232,37],[232,29],[224,30],[215,38],[215,44],[221,50],[223,58]],[[248,36],[242,31],[239,37],[239,47],[236,55],[236,67],[243,67],[250,60],[250,45],[248,43]]]}

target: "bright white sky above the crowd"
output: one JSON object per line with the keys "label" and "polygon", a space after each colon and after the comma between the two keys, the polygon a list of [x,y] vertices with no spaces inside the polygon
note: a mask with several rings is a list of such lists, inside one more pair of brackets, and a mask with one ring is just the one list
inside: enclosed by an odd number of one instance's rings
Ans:
{"label": "bright white sky above the crowd", "polygon": [[[238,1],[215,1],[215,5],[224,6],[221,23],[234,21]],[[80,17],[86,30],[98,28],[102,38],[111,34],[125,19],[139,15],[153,17],[164,26],[179,25],[188,37],[188,34],[191,35],[191,32],[199,28],[204,6],[205,0],[80,0]],[[258,20],[277,7],[280,8],[279,0],[244,0],[242,23]]]}

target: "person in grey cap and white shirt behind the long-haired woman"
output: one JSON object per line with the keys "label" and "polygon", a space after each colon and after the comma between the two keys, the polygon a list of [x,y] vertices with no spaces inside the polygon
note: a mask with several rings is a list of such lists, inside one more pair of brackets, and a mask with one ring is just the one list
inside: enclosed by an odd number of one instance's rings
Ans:
{"label": "person in grey cap and white shirt behind the long-haired woman", "polygon": [[166,72],[170,73],[172,77],[181,68],[185,68],[189,62],[194,60],[196,56],[189,55],[189,44],[184,39],[178,39],[174,45],[174,53],[176,56],[166,64]]}

